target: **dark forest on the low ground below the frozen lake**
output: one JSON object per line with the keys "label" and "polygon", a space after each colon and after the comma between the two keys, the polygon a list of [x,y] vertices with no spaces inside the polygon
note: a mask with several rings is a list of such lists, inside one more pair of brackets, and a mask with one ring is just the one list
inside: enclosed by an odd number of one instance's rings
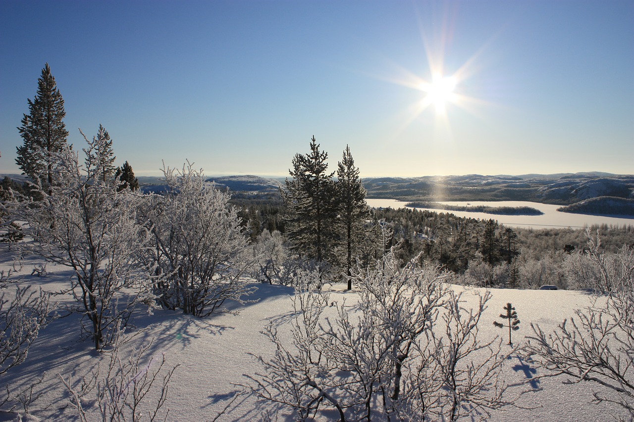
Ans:
{"label": "dark forest on the low ground below the frozen lake", "polygon": [[[243,225],[253,241],[257,242],[264,231],[285,233],[285,208],[278,195],[238,193],[233,195],[231,203],[240,208]],[[561,267],[566,254],[588,248],[588,233],[594,237],[598,233],[604,252],[617,252],[623,245],[634,246],[634,226],[604,224],[588,227],[588,231],[511,228],[498,224],[495,219],[457,217],[450,212],[382,208],[372,210],[368,230],[375,230],[379,235],[381,220],[393,233],[385,247],[395,246],[403,262],[420,254],[424,260],[467,275],[470,267],[473,270],[476,264],[485,264],[491,271],[497,268],[498,272],[506,272],[501,278],[507,281],[508,271],[517,265],[524,271],[524,283],[515,286],[525,288],[548,283],[566,288],[566,283],[554,270]],[[506,282],[492,284],[508,285]]]}

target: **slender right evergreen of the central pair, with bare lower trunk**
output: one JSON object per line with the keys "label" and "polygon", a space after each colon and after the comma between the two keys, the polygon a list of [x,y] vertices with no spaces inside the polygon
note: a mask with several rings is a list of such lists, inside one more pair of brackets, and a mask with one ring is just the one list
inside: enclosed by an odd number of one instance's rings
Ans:
{"label": "slender right evergreen of the central pair, with bare lower trunk", "polygon": [[359,169],[354,167],[354,159],[347,145],[338,167],[336,186],[339,194],[339,215],[346,238],[346,274],[348,290],[351,290],[353,255],[357,254],[363,240],[363,222],[370,216],[370,208],[365,203],[367,192],[361,183]]}

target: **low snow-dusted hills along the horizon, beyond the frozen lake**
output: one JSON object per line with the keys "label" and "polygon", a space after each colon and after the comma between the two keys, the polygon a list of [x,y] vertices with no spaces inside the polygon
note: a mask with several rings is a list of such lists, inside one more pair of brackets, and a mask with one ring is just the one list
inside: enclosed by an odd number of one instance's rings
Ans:
{"label": "low snow-dusted hills along the horizon, beyond the frozen lake", "polygon": [[[25,180],[25,176],[18,174],[0,174],[0,177],[4,176],[16,181]],[[165,190],[164,181],[160,177],[141,176],[138,179],[144,192]],[[234,193],[276,195],[280,186],[283,186],[283,179],[252,175],[209,177],[208,180],[215,182],[219,188],[229,189]],[[573,205],[580,201],[601,197],[634,200],[634,175],[605,172],[519,176],[466,174],[462,176],[365,177],[363,184],[368,191],[368,198],[390,198],[407,202],[534,201]],[[612,202],[602,201],[604,202],[602,206],[610,203],[616,206],[613,200]],[[592,207],[595,206],[598,205],[592,205]],[[607,212],[607,214],[615,213]]]}

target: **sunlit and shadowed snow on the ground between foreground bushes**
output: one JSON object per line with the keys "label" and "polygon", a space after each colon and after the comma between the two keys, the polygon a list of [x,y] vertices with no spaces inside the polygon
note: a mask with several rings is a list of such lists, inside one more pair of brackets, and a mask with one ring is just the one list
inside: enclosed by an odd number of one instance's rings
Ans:
{"label": "sunlit and shadowed snow on the ground between foreground bushes", "polygon": [[[0,270],[13,269],[13,253],[6,245],[0,246]],[[59,291],[67,286],[70,272],[63,267],[48,264],[45,277],[30,276],[36,260],[24,260],[22,268],[15,275],[22,275],[22,283],[41,286],[44,290]],[[331,300],[353,306],[356,301],[354,291],[347,292],[344,285],[327,285],[331,290]],[[269,323],[278,327],[282,335],[288,332],[288,321],[294,311],[290,295],[293,290],[283,286],[257,284],[257,293],[252,298],[257,302],[235,305],[240,312],[237,315],[223,314],[199,319],[180,312],[157,310],[152,316],[139,310],[134,315],[135,333],[133,341],[124,345],[126,350],[147,344],[153,340],[147,359],[165,355],[167,367],[179,365],[169,384],[169,397],[164,409],[169,408],[168,421],[209,421],[214,419],[228,399],[239,389],[236,383],[246,383],[243,374],[261,372],[262,368],[248,353],[271,355],[273,344],[261,335],[260,331]],[[455,286],[460,290],[462,287]],[[473,290],[474,292],[479,289]],[[6,290],[10,294],[9,290]],[[590,297],[579,291],[547,290],[491,290],[492,297],[482,319],[481,335],[487,340],[506,331],[493,326],[503,305],[511,302],[521,319],[521,329],[514,332],[515,343],[523,342],[525,335],[531,333],[530,323],[537,323],[550,331],[564,318],[574,315],[574,309],[590,305]],[[463,298],[475,300],[475,295],[467,291]],[[68,297],[58,296],[60,302]],[[475,302],[474,302],[475,303]],[[335,312],[335,307],[326,312]],[[132,332],[131,332],[132,333]],[[2,385],[18,389],[35,377],[46,373],[44,381],[37,388],[41,397],[30,407],[31,420],[73,420],[69,406],[68,393],[61,383],[60,376],[74,379],[89,373],[94,365],[102,365],[109,359],[107,354],[96,354],[91,342],[79,341],[80,330],[77,316],[67,316],[53,321],[41,331],[36,342],[30,348],[27,361],[13,368],[1,378]],[[526,380],[536,374],[529,362],[521,361],[517,356],[508,360],[504,369],[508,383]],[[609,421],[618,409],[597,406],[591,403],[592,391],[598,386],[591,383],[574,385],[562,384],[561,378],[542,378],[534,381],[533,392],[521,395],[515,400],[516,407],[495,411],[489,420],[493,421]],[[228,412],[218,418],[219,421],[257,421],[266,404],[258,404],[253,397],[241,396],[233,402]],[[6,407],[6,406],[5,406]],[[0,414],[0,421],[18,420],[15,414]],[[28,418],[25,418],[27,420]],[[283,418],[279,420],[293,420]]]}

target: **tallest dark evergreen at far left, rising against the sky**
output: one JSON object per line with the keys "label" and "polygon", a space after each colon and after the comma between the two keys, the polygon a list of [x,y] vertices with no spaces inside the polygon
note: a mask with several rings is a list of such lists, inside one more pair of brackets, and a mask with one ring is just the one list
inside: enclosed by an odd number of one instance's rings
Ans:
{"label": "tallest dark evergreen at far left, rising against the sky", "polygon": [[[29,101],[29,114],[22,118],[18,127],[24,144],[18,146],[15,162],[23,174],[32,181],[39,179],[42,186],[52,186],[54,182],[55,153],[66,144],[68,131],[62,119],[66,116],[64,99],[57,89],[48,63],[37,79],[37,95]],[[50,189],[48,189],[50,193]]]}

